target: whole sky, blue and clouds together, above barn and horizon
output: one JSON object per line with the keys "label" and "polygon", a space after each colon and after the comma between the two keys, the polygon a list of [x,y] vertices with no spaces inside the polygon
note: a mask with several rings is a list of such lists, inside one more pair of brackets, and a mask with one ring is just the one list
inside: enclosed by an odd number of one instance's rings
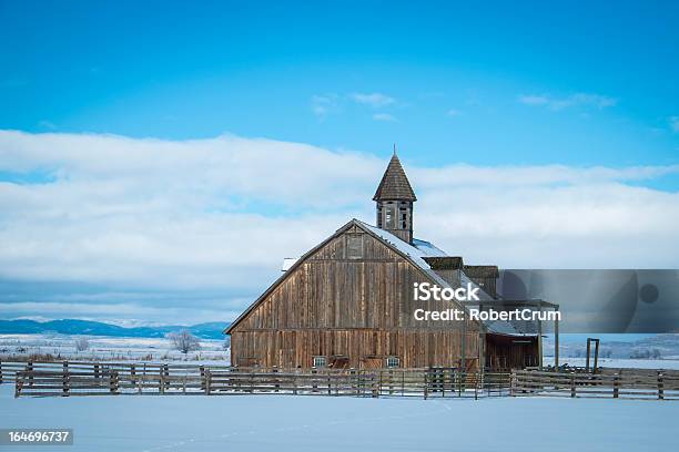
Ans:
{"label": "whole sky, blue and clouds together, above barn and horizon", "polygon": [[233,319],[283,257],[372,222],[393,143],[416,234],[466,261],[677,268],[677,23],[669,1],[0,0],[0,317]]}

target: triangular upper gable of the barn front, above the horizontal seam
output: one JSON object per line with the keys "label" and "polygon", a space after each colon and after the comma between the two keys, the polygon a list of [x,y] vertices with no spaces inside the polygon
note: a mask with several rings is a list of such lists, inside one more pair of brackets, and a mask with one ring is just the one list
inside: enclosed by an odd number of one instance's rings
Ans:
{"label": "triangular upper gable of the barn front, above the horizontal seam", "polygon": [[[391,238],[391,239],[389,239]],[[447,282],[422,251],[353,219],[300,258],[225,331],[304,328],[454,329],[460,322],[417,321],[416,308],[462,306],[415,301],[413,282]],[[469,330],[479,325],[469,322]]]}

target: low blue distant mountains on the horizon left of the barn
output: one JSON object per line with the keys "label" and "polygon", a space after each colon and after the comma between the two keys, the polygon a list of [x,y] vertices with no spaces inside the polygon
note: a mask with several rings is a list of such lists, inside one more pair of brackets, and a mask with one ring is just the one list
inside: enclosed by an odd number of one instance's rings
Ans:
{"label": "low blue distant mountains on the horizon left of the barn", "polygon": [[193,326],[169,325],[160,327],[124,328],[91,320],[0,320],[0,335],[29,335],[57,332],[61,335],[111,336],[125,338],[162,338],[169,332],[189,330],[203,339],[224,339],[222,331],[229,322],[214,321]]}

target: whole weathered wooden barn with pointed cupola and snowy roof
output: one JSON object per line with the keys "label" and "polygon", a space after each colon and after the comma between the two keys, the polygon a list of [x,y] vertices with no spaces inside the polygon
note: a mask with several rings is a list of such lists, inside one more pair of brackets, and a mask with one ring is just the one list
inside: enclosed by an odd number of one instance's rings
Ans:
{"label": "whole weathered wooden barn with pointed cupola and snowy roof", "polygon": [[495,266],[464,265],[413,237],[415,193],[396,154],[373,197],[376,224],[352,219],[296,259],[225,331],[233,366],[467,370],[540,364],[540,335],[506,321],[416,320],[463,309],[416,301],[415,282],[480,287],[497,299]]}

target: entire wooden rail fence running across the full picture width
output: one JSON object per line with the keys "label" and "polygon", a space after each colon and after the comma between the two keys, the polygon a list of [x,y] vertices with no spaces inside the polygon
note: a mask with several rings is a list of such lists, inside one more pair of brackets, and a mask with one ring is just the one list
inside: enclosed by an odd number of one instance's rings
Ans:
{"label": "entire wooden rail fence running across the full picture width", "polygon": [[628,369],[511,373],[427,369],[277,369],[193,363],[0,362],[21,396],[308,394],[353,397],[569,397],[679,400],[679,371]]}

